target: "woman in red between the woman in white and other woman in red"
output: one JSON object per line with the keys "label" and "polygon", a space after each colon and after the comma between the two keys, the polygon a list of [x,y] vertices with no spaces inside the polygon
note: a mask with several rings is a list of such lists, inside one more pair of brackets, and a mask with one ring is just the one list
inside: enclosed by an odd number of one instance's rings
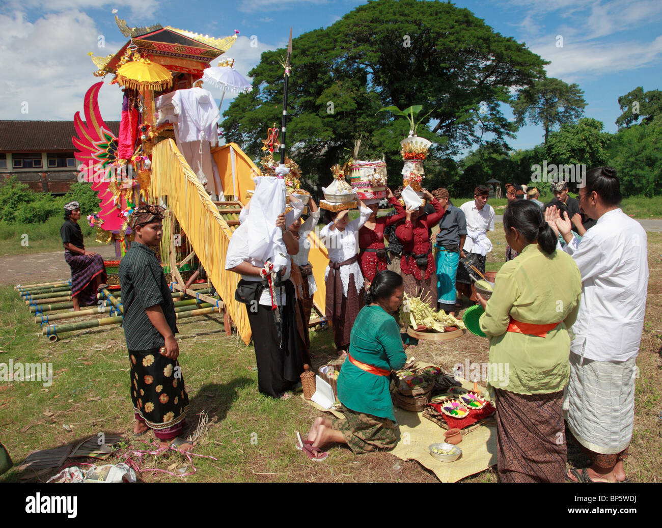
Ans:
{"label": "woman in red between the woman in white and other woman in red", "polygon": [[386,248],[384,246],[384,228],[391,226],[404,218],[404,208],[393,196],[393,191],[387,187],[389,203],[395,206],[396,213],[392,216],[377,218],[379,200],[364,200],[365,206],[372,210],[370,218],[359,229],[359,265],[361,273],[368,285],[373,281],[377,272],[384,271],[389,265]]}

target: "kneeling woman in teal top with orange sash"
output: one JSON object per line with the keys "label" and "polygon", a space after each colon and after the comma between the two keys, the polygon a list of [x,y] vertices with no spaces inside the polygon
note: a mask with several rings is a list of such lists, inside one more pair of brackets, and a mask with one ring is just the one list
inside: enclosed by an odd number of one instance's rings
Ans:
{"label": "kneeling woman in teal top with orange sash", "polygon": [[338,376],[338,400],[345,418],[314,421],[304,445],[314,457],[326,457],[321,448],[331,443],[346,443],[355,454],[393,449],[397,444],[389,382],[391,371],[400,369],[407,357],[391,312],[402,304],[403,295],[400,275],[389,270],[375,275]]}

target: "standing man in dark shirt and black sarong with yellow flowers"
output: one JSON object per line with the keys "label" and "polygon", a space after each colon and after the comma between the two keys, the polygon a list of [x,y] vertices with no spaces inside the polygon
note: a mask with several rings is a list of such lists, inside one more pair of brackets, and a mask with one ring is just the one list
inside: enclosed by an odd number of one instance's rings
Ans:
{"label": "standing man in dark shirt and black sarong with yellow flowers", "polygon": [[134,435],[148,429],[161,447],[188,451],[193,447],[179,435],[186,423],[189,396],[177,357],[175,307],[158,259],[151,247],[163,236],[164,208],[141,206],[131,218],[134,240],[120,261],[124,306],[124,337],[128,349]]}

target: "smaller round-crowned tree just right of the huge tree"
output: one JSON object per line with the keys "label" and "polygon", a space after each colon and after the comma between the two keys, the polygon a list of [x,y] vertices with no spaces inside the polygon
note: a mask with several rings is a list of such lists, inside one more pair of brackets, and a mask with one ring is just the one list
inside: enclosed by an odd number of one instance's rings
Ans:
{"label": "smaller round-crowned tree just right of the huge tree", "polygon": [[546,144],[552,128],[572,124],[581,117],[587,104],[583,94],[577,84],[569,85],[553,77],[540,79],[520,91],[512,110],[520,126],[542,124]]}

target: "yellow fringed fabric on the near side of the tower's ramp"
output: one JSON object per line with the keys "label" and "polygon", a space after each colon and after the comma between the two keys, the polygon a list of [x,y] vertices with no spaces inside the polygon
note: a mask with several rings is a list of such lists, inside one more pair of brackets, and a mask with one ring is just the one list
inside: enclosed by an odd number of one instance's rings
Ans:
{"label": "yellow fringed fabric on the near side of the tower's ramp", "polygon": [[150,198],[166,196],[169,208],[205,267],[239,335],[248,345],[251,330],[246,306],[234,300],[240,276],[225,271],[225,255],[232,236],[230,226],[171,139],[160,142],[152,150]]}

